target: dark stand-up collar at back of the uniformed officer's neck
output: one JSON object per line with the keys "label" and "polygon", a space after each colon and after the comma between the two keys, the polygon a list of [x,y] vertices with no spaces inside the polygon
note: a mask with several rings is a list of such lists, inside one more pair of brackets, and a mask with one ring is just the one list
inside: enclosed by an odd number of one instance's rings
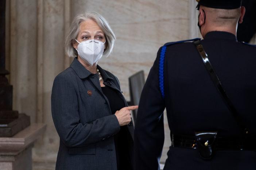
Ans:
{"label": "dark stand-up collar at back of the uniformed officer's neck", "polygon": [[224,31],[211,31],[205,35],[205,40],[212,40],[212,39],[225,39],[225,40],[232,40],[237,41],[236,36],[230,32]]}

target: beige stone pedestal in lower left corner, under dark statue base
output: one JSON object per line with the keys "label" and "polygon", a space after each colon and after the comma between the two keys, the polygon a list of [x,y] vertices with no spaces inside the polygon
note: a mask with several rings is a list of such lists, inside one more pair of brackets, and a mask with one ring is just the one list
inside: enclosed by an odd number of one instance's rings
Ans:
{"label": "beige stone pedestal in lower left corner, under dark statue base", "polygon": [[45,129],[45,124],[32,124],[13,137],[0,137],[0,169],[32,170],[32,147]]}

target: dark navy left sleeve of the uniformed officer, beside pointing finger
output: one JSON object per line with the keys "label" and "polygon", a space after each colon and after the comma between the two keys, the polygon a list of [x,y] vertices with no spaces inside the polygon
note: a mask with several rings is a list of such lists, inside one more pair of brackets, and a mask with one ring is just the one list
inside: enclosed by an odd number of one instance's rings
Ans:
{"label": "dark navy left sleeve of the uniformed officer, beside pointing finger", "polygon": [[136,170],[160,170],[165,104],[159,88],[159,56],[160,49],[141,92],[134,132]]}

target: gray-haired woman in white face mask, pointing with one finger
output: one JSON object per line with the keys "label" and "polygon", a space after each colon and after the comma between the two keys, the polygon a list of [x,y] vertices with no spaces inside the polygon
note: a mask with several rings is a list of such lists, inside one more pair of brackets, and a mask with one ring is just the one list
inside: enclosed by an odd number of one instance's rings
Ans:
{"label": "gray-haired woman in white face mask, pointing with one finger", "polygon": [[117,78],[97,65],[115,35],[98,13],[77,15],[65,42],[75,57],[54,80],[52,116],[60,137],[57,170],[132,170],[133,123]]}

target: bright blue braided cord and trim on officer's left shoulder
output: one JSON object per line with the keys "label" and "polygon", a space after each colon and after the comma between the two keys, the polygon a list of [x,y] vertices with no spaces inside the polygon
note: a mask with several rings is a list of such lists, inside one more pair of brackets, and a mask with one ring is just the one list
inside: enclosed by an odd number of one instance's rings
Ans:
{"label": "bright blue braided cord and trim on officer's left shoulder", "polygon": [[187,41],[196,41],[196,40],[201,40],[201,39],[197,38],[197,39],[191,39],[191,40],[166,43],[162,47],[161,53],[160,53],[160,58],[159,58],[159,88],[160,88],[160,92],[161,92],[163,98],[164,98],[164,58],[165,58],[165,53],[166,53],[166,47],[169,45],[173,45],[173,44],[184,43]]}

